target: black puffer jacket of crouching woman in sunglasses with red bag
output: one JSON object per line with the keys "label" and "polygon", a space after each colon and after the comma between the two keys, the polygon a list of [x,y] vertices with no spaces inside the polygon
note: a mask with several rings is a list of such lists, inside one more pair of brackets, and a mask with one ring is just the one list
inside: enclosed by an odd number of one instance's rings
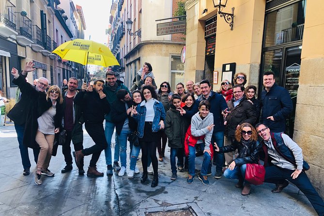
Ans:
{"label": "black puffer jacket of crouching woman in sunglasses with red bag", "polygon": [[[240,153],[243,145],[235,140],[231,145],[227,145],[219,148],[219,153],[233,152],[237,149]],[[250,148],[247,150],[247,156],[238,157],[234,159],[236,166],[242,166],[243,164],[258,164],[259,163],[259,152],[262,148],[262,145],[259,141],[252,141]]]}

